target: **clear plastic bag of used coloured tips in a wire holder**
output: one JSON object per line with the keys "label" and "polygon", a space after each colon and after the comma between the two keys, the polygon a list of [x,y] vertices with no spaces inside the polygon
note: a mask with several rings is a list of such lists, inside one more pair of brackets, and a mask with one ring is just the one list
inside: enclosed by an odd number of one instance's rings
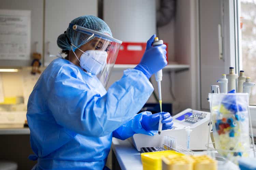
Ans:
{"label": "clear plastic bag of used coloured tips in a wire holder", "polygon": [[248,94],[209,94],[215,149],[238,164],[250,152]]}

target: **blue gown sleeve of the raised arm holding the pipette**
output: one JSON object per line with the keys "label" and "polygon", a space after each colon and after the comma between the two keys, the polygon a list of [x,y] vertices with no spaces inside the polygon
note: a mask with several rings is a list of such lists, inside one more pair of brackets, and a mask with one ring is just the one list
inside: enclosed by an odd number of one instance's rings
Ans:
{"label": "blue gown sleeve of the raised arm holding the pipette", "polygon": [[48,82],[46,102],[59,125],[86,136],[111,134],[136,115],[153,92],[150,81],[136,69],[125,70],[102,97],[78,74],[74,68],[61,69]]}

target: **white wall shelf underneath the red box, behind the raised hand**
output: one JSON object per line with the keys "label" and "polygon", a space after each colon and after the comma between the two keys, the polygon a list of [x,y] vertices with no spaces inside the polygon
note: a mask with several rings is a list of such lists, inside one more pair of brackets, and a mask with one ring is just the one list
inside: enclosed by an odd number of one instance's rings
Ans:
{"label": "white wall shelf underneath the red box, behind the raised hand", "polygon": [[[114,65],[114,70],[125,70],[127,68],[134,68],[136,67],[135,64],[115,64]],[[163,68],[163,71],[183,71],[183,70],[188,70],[189,65],[185,64],[168,64],[165,68]]]}

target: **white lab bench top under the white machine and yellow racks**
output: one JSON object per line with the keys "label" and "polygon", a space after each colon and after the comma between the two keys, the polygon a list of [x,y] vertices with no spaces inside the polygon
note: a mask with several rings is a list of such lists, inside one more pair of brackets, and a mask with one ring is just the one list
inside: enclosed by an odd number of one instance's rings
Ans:
{"label": "white lab bench top under the white machine and yellow racks", "polygon": [[[135,147],[133,147],[132,143],[126,140],[120,140],[113,138],[112,139],[112,150],[113,150],[113,158],[112,158],[112,168],[115,170],[143,170],[140,152],[137,151]],[[205,151],[195,152],[195,155],[202,154]],[[217,152],[217,151],[216,151]],[[253,150],[251,150],[250,157],[253,156]],[[222,170],[239,170],[238,166],[231,162],[227,162],[223,164],[223,161],[218,162],[218,169]],[[119,165],[118,165],[119,164]]]}

